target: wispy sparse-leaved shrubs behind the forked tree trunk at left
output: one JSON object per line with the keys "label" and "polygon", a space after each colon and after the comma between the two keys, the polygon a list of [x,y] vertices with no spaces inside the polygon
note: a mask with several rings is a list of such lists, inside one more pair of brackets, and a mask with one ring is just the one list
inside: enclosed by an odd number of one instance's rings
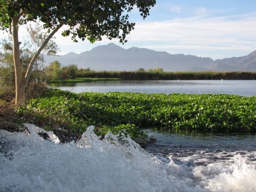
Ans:
{"label": "wispy sparse-leaved shrubs behind the forked tree trunk at left", "polygon": [[[21,68],[24,72],[35,54],[37,47],[46,38],[47,32],[37,22],[34,27],[27,27],[28,36],[23,38],[22,46],[20,47]],[[12,38],[5,38],[0,43],[0,97],[11,98],[15,96],[15,75],[13,66],[13,46]],[[31,73],[29,83],[26,88],[26,97],[35,97],[44,92],[46,89],[45,75],[43,70],[44,54],[56,55],[59,48],[58,45],[50,40],[39,54],[35,62],[33,73]],[[37,92],[38,94],[35,94]],[[34,93],[34,94],[33,94]]]}

